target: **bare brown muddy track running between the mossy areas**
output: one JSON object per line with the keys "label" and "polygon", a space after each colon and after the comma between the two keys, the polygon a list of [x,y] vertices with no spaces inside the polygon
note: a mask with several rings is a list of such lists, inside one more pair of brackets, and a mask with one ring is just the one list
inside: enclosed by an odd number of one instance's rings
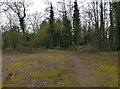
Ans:
{"label": "bare brown muddy track running between the mossy areas", "polygon": [[85,60],[81,60],[76,56],[71,56],[69,60],[70,70],[76,82],[75,87],[94,87],[96,86],[92,75],[94,68]]}

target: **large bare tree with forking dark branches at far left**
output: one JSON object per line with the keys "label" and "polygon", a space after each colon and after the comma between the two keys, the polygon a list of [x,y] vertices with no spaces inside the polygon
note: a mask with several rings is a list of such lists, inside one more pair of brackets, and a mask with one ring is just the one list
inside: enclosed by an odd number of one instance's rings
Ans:
{"label": "large bare tree with forking dark branches at far left", "polygon": [[24,0],[22,2],[0,2],[3,5],[3,11],[12,10],[19,18],[20,28],[25,33],[25,17],[29,4]]}

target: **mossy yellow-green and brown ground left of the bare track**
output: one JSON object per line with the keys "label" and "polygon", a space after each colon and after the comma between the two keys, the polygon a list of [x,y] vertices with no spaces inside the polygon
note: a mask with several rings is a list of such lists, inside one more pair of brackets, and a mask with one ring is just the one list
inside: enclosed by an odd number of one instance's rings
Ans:
{"label": "mossy yellow-green and brown ground left of the bare track", "polygon": [[3,87],[29,87],[35,79],[45,79],[39,83],[43,87],[72,86],[67,61],[64,53],[54,51],[3,54]]}

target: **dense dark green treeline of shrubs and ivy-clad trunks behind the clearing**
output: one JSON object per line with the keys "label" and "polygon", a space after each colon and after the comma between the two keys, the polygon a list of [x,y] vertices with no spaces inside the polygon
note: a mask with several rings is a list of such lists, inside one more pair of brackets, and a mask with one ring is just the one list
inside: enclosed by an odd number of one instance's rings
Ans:
{"label": "dense dark green treeline of shrubs and ivy-clad trunks behind the clearing", "polygon": [[[63,3],[65,4],[65,3]],[[72,21],[68,18],[65,6],[62,19],[55,19],[54,9],[50,3],[50,15],[44,20],[36,32],[26,31],[24,17],[19,14],[19,26],[11,26],[2,33],[4,50],[70,49],[89,51],[118,51],[120,50],[120,2],[92,2],[86,14],[90,21],[82,24],[77,1],[74,2]],[[106,24],[106,13],[109,12],[109,25]],[[39,18],[37,18],[39,19]]]}

